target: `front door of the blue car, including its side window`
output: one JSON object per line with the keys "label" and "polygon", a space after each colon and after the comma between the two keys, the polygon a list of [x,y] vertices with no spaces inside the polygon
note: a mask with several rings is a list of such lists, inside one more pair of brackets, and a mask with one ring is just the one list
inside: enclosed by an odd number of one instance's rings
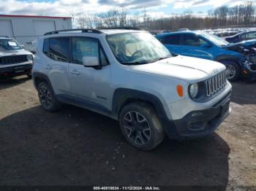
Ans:
{"label": "front door of the blue car, including its side window", "polygon": [[213,60],[214,47],[197,34],[183,34],[181,37],[180,54],[195,58]]}

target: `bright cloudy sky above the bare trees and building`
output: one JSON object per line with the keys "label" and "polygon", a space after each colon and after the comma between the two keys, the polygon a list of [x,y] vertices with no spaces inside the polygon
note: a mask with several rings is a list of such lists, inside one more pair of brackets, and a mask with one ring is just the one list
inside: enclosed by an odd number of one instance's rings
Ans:
{"label": "bright cloudy sky above the bare trees and building", "polygon": [[0,0],[0,15],[78,18],[87,13],[106,12],[109,9],[124,7],[130,14],[138,14],[146,9],[153,17],[165,17],[182,14],[188,9],[196,14],[207,14],[209,9],[215,7],[233,7],[245,2],[246,0]]}

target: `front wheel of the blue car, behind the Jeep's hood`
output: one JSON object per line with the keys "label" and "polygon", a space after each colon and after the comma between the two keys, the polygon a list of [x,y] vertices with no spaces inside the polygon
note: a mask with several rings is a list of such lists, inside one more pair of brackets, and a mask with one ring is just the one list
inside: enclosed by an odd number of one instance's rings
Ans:
{"label": "front wheel of the blue car, behind the Jeep's hood", "polygon": [[220,61],[220,63],[223,63],[227,68],[227,80],[234,82],[239,79],[241,76],[241,69],[238,63],[235,61]]}

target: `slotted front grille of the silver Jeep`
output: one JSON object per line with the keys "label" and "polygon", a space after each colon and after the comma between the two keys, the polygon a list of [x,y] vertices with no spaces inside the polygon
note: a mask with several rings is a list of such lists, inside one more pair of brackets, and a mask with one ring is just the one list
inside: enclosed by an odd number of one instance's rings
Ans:
{"label": "slotted front grille of the silver Jeep", "polygon": [[227,85],[226,71],[222,71],[219,74],[206,80],[206,96],[210,97],[215,93],[218,93]]}

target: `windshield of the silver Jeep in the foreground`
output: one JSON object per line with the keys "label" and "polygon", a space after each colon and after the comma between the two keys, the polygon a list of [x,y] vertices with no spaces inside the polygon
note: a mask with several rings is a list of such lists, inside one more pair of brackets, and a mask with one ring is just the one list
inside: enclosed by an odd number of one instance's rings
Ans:
{"label": "windshield of the silver Jeep in the foreground", "polygon": [[145,32],[112,34],[107,41],[118,62],[126,65],[151,63],[171,56],[161,42]]}

